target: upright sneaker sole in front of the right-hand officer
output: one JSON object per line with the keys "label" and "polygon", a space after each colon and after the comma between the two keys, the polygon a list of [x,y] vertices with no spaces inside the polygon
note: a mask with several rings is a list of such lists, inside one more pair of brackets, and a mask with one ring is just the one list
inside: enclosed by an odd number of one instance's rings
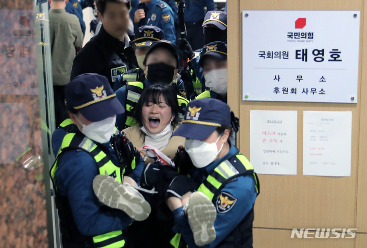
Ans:
{"label": "upright sneaker sole in front of the right-hand officer", "polygon": [[214,221],[217,218],[217,210],[204,193],[192,193],[187,214],[195,244],[203,246],[213,242],[216,238]]}

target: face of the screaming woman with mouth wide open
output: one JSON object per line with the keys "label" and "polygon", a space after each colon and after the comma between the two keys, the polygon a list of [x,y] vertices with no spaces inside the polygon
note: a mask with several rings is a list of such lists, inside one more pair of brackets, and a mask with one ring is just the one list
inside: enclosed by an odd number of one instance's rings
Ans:
{"label": "face of the screaming woman with mouth wide open", "polygon": [[152,134],[161,133],[168,125],[171,124],[172,109],[165,101],[163,95],[160,96],[158,104],[154,104],[151,100],[143,106],[143,125],[146,130]]}

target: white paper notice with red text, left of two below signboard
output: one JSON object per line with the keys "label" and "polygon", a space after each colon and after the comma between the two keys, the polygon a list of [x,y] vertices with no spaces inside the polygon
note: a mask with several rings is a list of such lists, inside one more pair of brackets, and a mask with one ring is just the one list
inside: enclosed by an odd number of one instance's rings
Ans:
{"label": "white paper notice with red text, left of two below signboard", "polygon": [[297,111],[250,111],[250,159],[256,173],[297,175]]}

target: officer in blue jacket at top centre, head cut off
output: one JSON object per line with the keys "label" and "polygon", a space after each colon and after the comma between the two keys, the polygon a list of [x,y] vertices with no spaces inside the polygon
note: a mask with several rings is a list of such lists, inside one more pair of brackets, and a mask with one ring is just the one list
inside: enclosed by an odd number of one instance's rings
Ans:
{"label": "officer in blue jacket at top centre, head cut off", "polygon": [[142,0],[134,16],[134,31],[144,25],[156,26],[165,33],[166,40],[176,43],[173,11],[161,0]]}

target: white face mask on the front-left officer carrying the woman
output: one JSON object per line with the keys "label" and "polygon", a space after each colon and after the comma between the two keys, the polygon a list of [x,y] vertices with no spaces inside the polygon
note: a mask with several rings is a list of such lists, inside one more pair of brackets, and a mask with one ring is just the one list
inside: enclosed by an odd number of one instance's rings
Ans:
{"label": "white face mask on the front-left officer carrying the woman", "polygon": [[76,115],[75,118],[80,123],[80,125],[83,126],[81,132],[91,140],[97,141],[98,143],[106,143],[110,141],[115,128],[116,116],[109,117],[101,121],[96,121],[90,123],[89,125],[84,125],[76,117]]}

